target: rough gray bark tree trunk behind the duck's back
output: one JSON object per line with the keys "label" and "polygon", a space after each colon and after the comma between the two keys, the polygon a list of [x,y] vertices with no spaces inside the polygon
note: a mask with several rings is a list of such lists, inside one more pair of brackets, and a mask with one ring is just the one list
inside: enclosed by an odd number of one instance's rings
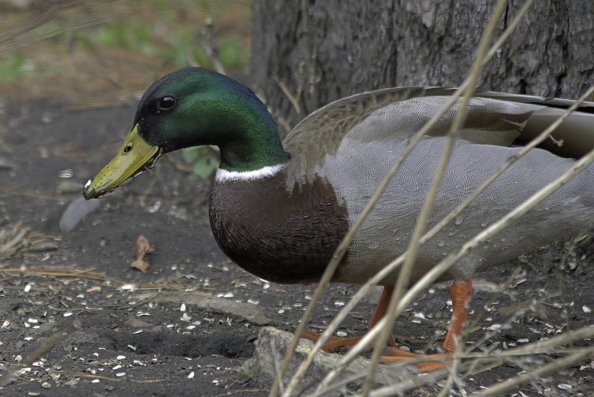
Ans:
{"label": "rough gray bark tree trunk behind the duck's back", "polygon": [[[287,133],[327,103],[468,73],[495,0],[254,0],[252,74]],[[511,1],[496,37],[522,1]],[[592,84],[594,2],[536,0],[479,79],[481,89],[576,97]]]}

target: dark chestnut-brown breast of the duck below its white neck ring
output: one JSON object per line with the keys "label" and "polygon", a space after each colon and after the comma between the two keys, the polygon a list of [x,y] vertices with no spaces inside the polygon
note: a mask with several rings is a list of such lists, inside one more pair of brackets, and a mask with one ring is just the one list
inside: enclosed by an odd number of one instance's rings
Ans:
{"label": "dark chestnut-brown breast of the duck below its white neck ring", "polygon": [[286,177],[215,182],[210,226],[219,247],[248,272],[279,283],[316,282],[348,228],[334,189],[314,182],[285,187]]}

